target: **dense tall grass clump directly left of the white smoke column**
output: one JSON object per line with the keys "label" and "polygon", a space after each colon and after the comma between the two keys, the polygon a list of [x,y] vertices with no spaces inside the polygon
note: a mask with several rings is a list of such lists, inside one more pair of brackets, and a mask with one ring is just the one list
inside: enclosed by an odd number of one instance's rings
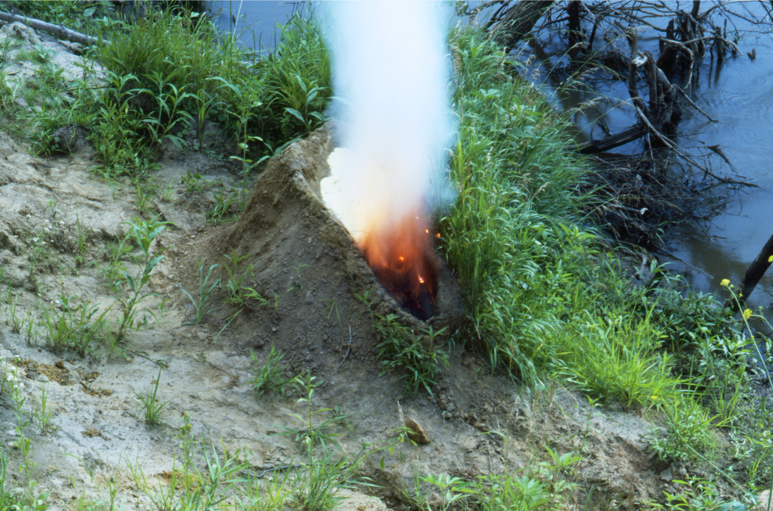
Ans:
{"label": "dense tall grass clump directly left of the white smoke column", "polygon": [[278,26],[276,47],[267,57],[219,34],[205,16],[169,11],[114,33],[98,53],[124,81],[119,94],[129,94],[130,109],[154,120],[145,122],[157,138],[178,143],[173,135],[185,124],[172,127],[184,119],[203,145],[205,122],[216,121],[236,139],[243,162],[261,162],[318,128],[332,95],[322,35],[300,14]]}

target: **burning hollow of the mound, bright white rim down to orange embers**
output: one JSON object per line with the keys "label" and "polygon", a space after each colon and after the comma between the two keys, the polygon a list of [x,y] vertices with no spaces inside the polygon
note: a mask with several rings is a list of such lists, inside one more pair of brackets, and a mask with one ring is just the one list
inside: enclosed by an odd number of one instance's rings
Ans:
{"label": "burning hollow of the mound, bright white rim down to orange embers", "polygon": [[[438,258],[434,254],[434,233],[424,211],[414,207],[398,218],[390,218],[386,213],[389,209],[377,204],[378,197],[346,196],[344,169],[358,165],[346,148],[336,148],[328,164],[331,174],[320,182],[322,199],[349,230],[373,274],[398,305],[422,321],[431,318],[438,295]],[[368,203],[363,205],[361,200]]]}

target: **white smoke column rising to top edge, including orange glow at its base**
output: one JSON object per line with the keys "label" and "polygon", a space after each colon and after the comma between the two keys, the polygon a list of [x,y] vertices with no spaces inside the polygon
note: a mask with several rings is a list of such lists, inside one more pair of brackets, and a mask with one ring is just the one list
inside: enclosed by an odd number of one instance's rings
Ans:
{"label": "white smoke column rising to top edge, including orange glow at its base", "polygon": [[[425,283],[427,272],[434,273],[427,216],[452,199],[441,177],[452,132],[448,14],[440,2],[327,7],[333,84],[340,98],[332,114],[346,121],[340,145],[349,152],[334,158],[339,189],[325,200],[385,287],[402,301],[407,298],[397,288],[436,285]],[[402,281],[388,284],[385,278]],[[433,300],[434,288],[429,292]],[[425,305],[410,308],[428,315]]]}

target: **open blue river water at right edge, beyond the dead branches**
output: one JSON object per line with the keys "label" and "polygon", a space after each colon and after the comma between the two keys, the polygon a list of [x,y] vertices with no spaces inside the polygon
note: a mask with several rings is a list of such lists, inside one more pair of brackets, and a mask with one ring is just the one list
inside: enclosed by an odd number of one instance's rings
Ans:
{"label": "open blue river water at right edge, beyond the dead branches", "polygon": [[[693,116],[680,126],[683,132],[695,134],[691,138],[696,145],[720,144],[737,173],[761,187],[730,196],[732,202],[713,220],[708,236],[693,235],[669,244],[670,252],[714,276],[710,279],[693,272],[691,284],[700,291],[717,291],[723,278],[740,283],[748,265],[773,235],[773,42],[770,34],[751,35],[739,46],[744,54],[727,60],[721,70],[703,66],[696,90],[699,106],[719,122]],[[745,55],[752,48],[757,52],[754,61]],[[679,264],[674,267],[684,269]],[[769,305],[773,299],[767,292],[771,289],[773,274],[769,272],[749,304]]]}

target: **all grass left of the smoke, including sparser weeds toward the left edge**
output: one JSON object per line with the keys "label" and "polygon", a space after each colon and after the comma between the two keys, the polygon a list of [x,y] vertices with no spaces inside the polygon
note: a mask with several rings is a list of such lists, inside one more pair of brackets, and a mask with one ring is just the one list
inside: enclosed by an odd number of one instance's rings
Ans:
{"label": "all grass left of the smoke, including sparser weeds toward the left edge", "polygon": [[[55,11],[47,17],[64,15]],[[145,179],[166,141],[211,148],[206,126],[215,122],[233,137],[233,159],[247,173],[325,121],[330,66],[311,17],[296,14],[278,26],[265,56],[217,32],[206,16],[179,9],[151,9],[131,23],[105,17],[90,29],[99,29],[100,44],[78,64],[82,79],[63,83],[52,67],[45,87],[22,91],[38,106],[18,130],[29,133],[35,152],[59,151],[56,130],[78,125],[100,155],[97,173]]]}

